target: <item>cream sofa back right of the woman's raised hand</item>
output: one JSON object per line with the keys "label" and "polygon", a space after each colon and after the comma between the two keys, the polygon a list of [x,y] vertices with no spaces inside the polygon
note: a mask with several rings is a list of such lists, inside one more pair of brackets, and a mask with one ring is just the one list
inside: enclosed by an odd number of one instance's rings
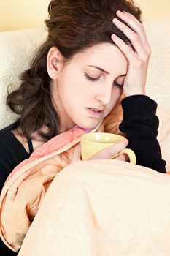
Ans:
{"label": "cream sofa back right of the woman's raised hand", "polygon": [[147,77],[147,94],[170,110],[170,18],[145,23],[152,55]]}

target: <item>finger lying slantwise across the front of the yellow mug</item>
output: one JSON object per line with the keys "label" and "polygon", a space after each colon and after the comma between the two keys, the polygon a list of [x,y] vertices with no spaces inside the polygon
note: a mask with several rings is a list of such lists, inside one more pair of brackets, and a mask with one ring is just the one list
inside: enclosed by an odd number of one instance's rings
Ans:
{"label": "finger lying slantwise across the front of the yellow mug", "polygon": [[123,150],[128,145],[128,140],[120,140],[118,143],[108,148],[104,148],[102,151],[99,151],[90,160],[94,159],[111,159],[115,154]]}

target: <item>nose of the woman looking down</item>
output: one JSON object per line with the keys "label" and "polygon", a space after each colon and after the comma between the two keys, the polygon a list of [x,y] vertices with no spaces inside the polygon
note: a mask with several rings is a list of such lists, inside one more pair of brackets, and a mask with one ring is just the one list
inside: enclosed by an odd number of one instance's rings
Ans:
{"label": "nose of the woman looking down", "polygon": [[109,104],[112,99],[112,86],[104,86],[101,91],[98,91],[96,99],[102,102],[103,105]]}

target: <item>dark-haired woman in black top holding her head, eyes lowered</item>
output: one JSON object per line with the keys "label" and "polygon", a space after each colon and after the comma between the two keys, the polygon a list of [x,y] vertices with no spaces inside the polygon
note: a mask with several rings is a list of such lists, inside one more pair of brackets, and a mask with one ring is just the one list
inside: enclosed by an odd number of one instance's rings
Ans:
{"label": "dark-haired woman in black top holding her head, eyes lowered", "polygon": [[[122,94],[120,131],[128,140],[93,159],[109,159],[128,146],[137,165],[166,173],[156,139],[157,104],[145,95],[151,50],[139,8],[126,0],[53,0],[46,25],[47,40],[20,88],[7,97],[19,118],[0,132],[0,189],[12,169],[50,138],[75,125],[95,128]],[[80,159],[79,148],[72,159]]]}

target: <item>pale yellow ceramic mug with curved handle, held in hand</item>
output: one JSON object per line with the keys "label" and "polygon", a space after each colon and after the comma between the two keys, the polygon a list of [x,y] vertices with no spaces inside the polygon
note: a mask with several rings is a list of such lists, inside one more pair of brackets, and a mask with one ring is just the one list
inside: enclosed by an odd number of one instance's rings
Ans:
{"label": "pale yellow ceramic mug with curved handle, held in hand", "polygon": [[[121,135],[116,135],[108,132],[91,132],[82,135],[80,140],[82,160],[90,159],[94,154],[98,153],[104,148],[114,145],[120,140],[125,138]],[[129,148],[125,148],[115,154],[112,159],[121,154],[127,154],[131,164],[136,164],[136,156],[134,151]]]}

